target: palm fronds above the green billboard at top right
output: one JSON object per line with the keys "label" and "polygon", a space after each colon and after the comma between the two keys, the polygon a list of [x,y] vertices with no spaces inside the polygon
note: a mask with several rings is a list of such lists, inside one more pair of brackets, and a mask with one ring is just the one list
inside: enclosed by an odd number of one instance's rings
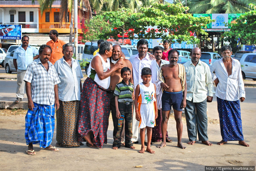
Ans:
{"label": "palm fronds above the green billboard at top right", "polygon": [[256,4],[256,0],[191,0],[189,3],[191,13],[245,13],[251,11],[248,4]]}

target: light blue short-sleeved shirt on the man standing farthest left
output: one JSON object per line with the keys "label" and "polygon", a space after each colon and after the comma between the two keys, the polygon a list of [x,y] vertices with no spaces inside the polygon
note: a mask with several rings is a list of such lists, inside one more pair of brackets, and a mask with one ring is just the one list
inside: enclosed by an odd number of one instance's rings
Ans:
{"label": "light blue short-sleeved shirt on the man standing farthest left", "polygon": [[28,45],[26,51],[22,47],[15,49],[13,53],[13,59],[17,59],[17,66],[19,70],[26,70],[28,65],[33,62],[34,56],[38,55],[38,49],[33,46]]}

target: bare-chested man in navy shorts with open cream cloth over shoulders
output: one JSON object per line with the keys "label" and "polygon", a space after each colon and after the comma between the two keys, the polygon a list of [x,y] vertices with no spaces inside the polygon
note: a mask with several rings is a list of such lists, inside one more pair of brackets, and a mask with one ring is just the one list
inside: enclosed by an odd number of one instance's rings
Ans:
{"label": "bare-chested man in navy shorts with open cream cloth over shoulders", "polygon": [[[162,81],[162,135],[166,135],[167,122],[170,116],[170,110],[174,110],[174,118],[176,121],[176,129],[178,134],[178,147],[185,149],[186,147],[181,143],[182,136],[182,108],[186,107],[187,83],[185,68],[182,64],[177,64],[179,59],[179,52],[177,49],[171,49],[168,52],[170,64],[160,67],[158,71],[158,80]],[[182,93],[183,92],[183,93]],[[166,139],[157,147],[162,148],[166,146]]]}

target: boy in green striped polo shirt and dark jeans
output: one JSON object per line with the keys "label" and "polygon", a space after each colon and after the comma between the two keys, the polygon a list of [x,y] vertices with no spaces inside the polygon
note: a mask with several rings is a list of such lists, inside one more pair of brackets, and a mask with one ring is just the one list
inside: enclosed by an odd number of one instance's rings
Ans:
{"label": "boy in green striped polo shirt and dark jeans", "polygon": [[114,91],[118,124],[112,148],[116,150],[121,147],[121,133],[123,120],[125,119],[125,147],[135,149],[131,142],[131,137],[133,136],[132,103],[134,99],[134,86],[129,81],[131,78],[131,70],[128,67],[123,67],[121,69],[121,78],[123,78],[123,80],[115,86]]}

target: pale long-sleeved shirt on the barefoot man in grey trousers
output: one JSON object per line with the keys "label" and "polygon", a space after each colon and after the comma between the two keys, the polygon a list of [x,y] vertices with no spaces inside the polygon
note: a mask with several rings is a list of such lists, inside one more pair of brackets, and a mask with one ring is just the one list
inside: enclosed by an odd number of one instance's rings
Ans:
{"label": "pale long-sleeved shirt on the barefoot man in grey trousers", "polygon": [[183,64],[183,66],[185,67],[187,80],[186,99],[189,101],[193,99],[194,103],[204,101],[207,98],[207,87],[209,96],[213,97],[215,91],[209,66],[200,60],[196,66],[193,65],[191,60]]}

